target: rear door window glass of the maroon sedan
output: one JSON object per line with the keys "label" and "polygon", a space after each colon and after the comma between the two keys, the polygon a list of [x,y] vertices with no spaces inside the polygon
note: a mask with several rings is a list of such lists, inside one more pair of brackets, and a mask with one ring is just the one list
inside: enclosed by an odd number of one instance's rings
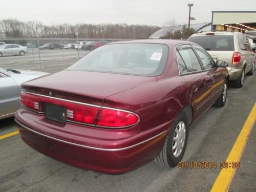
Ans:
{"label": "rear door window glass of the maroon sedan", "polygon": [[184,61],[188,72],[202,71],[200,62],[196,54],[194,53],[193,49],[190,46],[188,45],[179,46],[177,48],[177,51],[180,54],[182,60]]}

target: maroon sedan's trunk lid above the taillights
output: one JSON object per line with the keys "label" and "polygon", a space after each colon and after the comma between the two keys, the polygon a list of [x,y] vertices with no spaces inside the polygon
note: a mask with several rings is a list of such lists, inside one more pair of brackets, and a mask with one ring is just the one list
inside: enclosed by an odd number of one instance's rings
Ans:
{"label": "maroon sedan's trunk lid above the taillights", "polygon": [[102,105],[110,95],[155,81],[156,77],[65,70],[28,81],[23,90]]}

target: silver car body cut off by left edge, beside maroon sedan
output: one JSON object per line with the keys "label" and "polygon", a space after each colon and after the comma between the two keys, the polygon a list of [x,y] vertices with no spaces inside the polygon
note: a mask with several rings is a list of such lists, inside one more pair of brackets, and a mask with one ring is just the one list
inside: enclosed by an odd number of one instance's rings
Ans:
{"label": "silver car body cut off by left edge, beside maroon sedan", "polygon": [[19,109],[18,87],[12,77],[0,71],[0,118]]}

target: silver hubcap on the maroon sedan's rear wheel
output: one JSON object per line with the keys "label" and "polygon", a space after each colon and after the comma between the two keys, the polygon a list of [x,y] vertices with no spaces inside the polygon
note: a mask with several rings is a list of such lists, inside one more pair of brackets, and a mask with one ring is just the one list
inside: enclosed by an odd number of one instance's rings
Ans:
{"label": "silver hubcap on the maroon sedan's rear wheel", "polygon": [[186,126],[183,121],[180,121],[176,126],[173,138],[173,155],[179,157],[181,154],[186,139]]}

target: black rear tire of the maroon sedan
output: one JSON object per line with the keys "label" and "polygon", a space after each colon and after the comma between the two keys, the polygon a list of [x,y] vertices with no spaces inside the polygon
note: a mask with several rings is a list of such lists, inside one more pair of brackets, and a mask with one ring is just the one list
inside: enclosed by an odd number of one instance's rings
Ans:
{"label": "black rear tire of the maroon sedan", "polygon": [[[182,127],[181,124],[184,123],[184,126]],[[182,132],[183,135],[182,138],[179,138],[179,136],[177,135],[176,129],[185,129],[185,133],[184,131]],[[175,150],[173,150],[173,146],[175,146],[176,141],[174,140],[174,136],[176,135],[176,137],[178,137],[179,141],[183,141],[184,143],[182,144],[183,147],[181,149],[181,152],[179,152],[178,154],[175,153]],[[162,148],[162,150],[160,151],[160,153],[158,154],[158,156],[155,158],[155,161],[161,165],[161,166],[165,166],[165,167],[175,167],[178,165],[178,163],[181,161],[185,150],[186,150],[186,145],[187,145],[187,138],[188,138],[188,120],[187,117],[185,115],[185,113],[181,112],[177,118],[174,120],[173,124],[170,126],[170,131],[167,135],[167,138],[165,140],[164,146]],[[177,143],[176,143],[177,145]],[[176,150],[177,152],[177,150]],[[175,156],[175,154],[177,156]]]}

